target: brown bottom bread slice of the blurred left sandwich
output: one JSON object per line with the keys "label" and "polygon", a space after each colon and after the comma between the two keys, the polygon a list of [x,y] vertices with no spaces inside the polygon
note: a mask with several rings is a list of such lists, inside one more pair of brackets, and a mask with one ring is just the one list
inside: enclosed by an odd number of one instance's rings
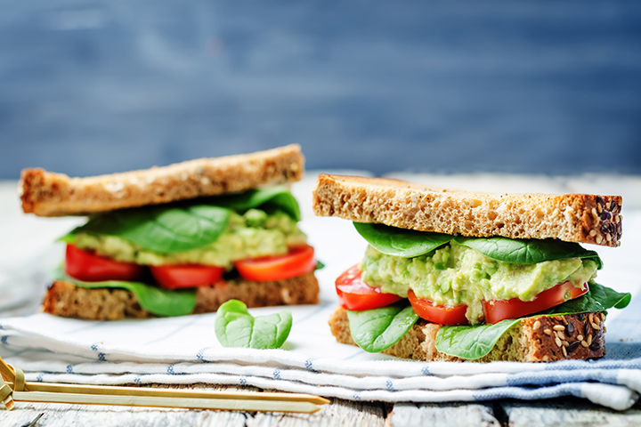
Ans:
{"label": "brown bottom bread slice of the blurred left sandwich", "polygon": [[[313,272],[268,282],[239,280],[215,286],[199,286],[193,314],[218,310],[223,302],[236,299],[247,307],[318,303],[319,286]],[[116,320],[118,318],[151,318],[136,296],[115,288],[88,289],[57,280],[45,294],[42,310],[66,318]]]}

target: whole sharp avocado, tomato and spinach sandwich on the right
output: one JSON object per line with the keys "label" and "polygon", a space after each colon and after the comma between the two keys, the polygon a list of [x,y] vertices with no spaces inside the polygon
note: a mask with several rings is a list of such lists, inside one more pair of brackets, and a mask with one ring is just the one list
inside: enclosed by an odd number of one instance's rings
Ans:
{"label": "whole sharp avocado, tomato and spinach sandwich on the right", "polygon": [[605,354],[606,311],[580,243],[619,246],[621,197],[490,194],[321,175],[314,214],[369,243],[336,281],[338,342],[419,360],[555,361]]}

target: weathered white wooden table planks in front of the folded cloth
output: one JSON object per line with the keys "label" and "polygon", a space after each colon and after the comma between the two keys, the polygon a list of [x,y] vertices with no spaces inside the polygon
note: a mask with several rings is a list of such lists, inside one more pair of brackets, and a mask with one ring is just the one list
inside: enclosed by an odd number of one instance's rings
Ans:
{"label": "weathered white wooden table planks in front of the folded cloth", "polygon": [[[213,390],[211,386],[194,386]],[[246,388],[242,390],[254,390]],[[29,424],[40,418],[37,423]],[[625,412],[596,407],[580,399],[487,404],[388,405],[332,399],[315,414],[247,413],[211,410],[159,409],[88,405],[18,403],[13,411],[0,410],[0,425],[21,427],[186,427],[186,426],[636,426],[641,425],[641,406]]]}

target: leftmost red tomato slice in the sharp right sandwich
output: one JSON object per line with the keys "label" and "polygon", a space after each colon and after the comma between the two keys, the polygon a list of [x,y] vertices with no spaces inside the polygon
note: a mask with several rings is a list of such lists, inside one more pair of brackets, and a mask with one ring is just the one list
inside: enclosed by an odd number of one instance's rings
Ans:
{"label": "leftmost red tomato slice in the sharp right sandwich", "polygon": [[378,287],[369,286],[361,279],[358,265],[338,276],[336,281],[338,299],[347,310],[362,311],[385,307],[401,301],[402,297],[384,294]]}

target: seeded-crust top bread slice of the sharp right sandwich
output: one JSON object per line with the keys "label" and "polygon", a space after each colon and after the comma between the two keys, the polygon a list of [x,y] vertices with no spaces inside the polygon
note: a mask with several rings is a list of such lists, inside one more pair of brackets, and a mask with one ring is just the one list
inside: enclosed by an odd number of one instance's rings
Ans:
{"label": "seeded-crust top bread slice of the sharp right sandwich", "polygon": [[355,222],[469,237],[621,244],[621,196],[492,194],[321,174],[313,190],[313,211]]}

